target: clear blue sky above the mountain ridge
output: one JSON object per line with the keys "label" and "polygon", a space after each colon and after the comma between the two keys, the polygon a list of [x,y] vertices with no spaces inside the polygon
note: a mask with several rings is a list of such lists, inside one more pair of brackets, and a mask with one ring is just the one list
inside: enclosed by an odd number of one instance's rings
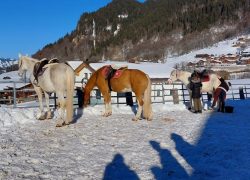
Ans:
{"label": "clear blue sky above the mountain ridge", "polygon": [[[143,0],[140,0],[141,2]],[[75,29],[84,12],[111,0],[1,0],[0,57],[32,55]]]}

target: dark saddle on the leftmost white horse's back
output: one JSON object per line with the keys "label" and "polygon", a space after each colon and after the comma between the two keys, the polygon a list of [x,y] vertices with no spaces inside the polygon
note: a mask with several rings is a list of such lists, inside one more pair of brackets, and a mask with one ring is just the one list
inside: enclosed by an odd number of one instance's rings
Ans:
{"label": "dark saddle on the leftmost white horse's back", "polygon": [[51,60],[44,58],[34,65],[34,69],[33,69],[33,75],[35,77],[35,80],[33,82],[34,84],[36,85],[38,84],[38,77],[43,75],[44,71],[47,69],[46,65],[53,64],[53,63],[59,63],[59,60],[56,58],[53,58]]}

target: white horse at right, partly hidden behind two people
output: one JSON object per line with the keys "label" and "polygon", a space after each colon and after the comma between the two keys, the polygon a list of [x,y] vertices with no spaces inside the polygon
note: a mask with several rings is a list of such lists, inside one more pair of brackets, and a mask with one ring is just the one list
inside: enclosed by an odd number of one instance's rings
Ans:
{"label": "white horse at right, partly hidden behind two people", "polygon": [[[191,90],[189,89],[189,83],[190,83],[190,78],[191,74],[188,71],[181,71],[181,70],[173,70],[170,74],[169,80],[174,82],[177,80],[180,80],[187,88],[190,96],[190,106],[192,108],[192,101],[191,101]],[[220,85],[220,80],[218,79],[216,74],[209,74],[209,80],[206,82],[202,82],[202,92],[208,92],[210,94],[213,94],[215,89]]]}

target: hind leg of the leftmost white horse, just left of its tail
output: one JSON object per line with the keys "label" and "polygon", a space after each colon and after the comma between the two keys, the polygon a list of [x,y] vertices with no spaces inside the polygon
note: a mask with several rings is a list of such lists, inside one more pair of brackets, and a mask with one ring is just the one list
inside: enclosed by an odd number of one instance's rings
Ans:
{"label": "hind leg of the leftmost white horse, just left of its tail", "polygon": [[63,93],[57,93],[58,95],[58,119],[56,121],[56,127],[62,127],[65,124],[65,99]]}

